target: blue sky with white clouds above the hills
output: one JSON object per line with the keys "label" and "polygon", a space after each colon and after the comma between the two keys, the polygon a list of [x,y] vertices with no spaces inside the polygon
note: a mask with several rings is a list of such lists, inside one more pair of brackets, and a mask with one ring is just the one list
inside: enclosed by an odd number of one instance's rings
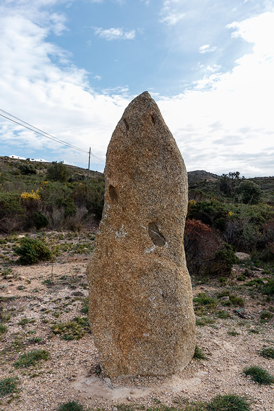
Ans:
{"label": "blue sky with white clouds above the hills", "polygon": [[148,90],[188,171],[274,175],[274,0],[1,0],[0,39],[0,109],[80,148],[0,116],[2,156],[103,171]]}

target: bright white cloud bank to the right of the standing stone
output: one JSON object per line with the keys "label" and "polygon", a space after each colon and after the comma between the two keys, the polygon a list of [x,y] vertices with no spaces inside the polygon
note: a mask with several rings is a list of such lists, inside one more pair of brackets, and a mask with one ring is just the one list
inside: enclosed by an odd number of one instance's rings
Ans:
{"label": "bright white cloud bank to the right of the standing stone", "polygon": [[251,52],[226,73],[208,66],[194,89],[158,103],[188,170],[274,174],[274,13],[229,28],[253,43]]}

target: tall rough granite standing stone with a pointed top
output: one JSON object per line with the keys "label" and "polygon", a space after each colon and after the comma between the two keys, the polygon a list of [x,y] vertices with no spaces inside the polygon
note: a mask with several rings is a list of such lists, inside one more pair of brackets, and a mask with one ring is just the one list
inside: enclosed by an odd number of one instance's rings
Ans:
{"label": "tall rough granite standing stone with a pointed top", "polygon": [[187,173],[150,94],[125,109],[107,148],[105,204],[87,267],[104,375],[167,376],[195,348],[183,235]]}

